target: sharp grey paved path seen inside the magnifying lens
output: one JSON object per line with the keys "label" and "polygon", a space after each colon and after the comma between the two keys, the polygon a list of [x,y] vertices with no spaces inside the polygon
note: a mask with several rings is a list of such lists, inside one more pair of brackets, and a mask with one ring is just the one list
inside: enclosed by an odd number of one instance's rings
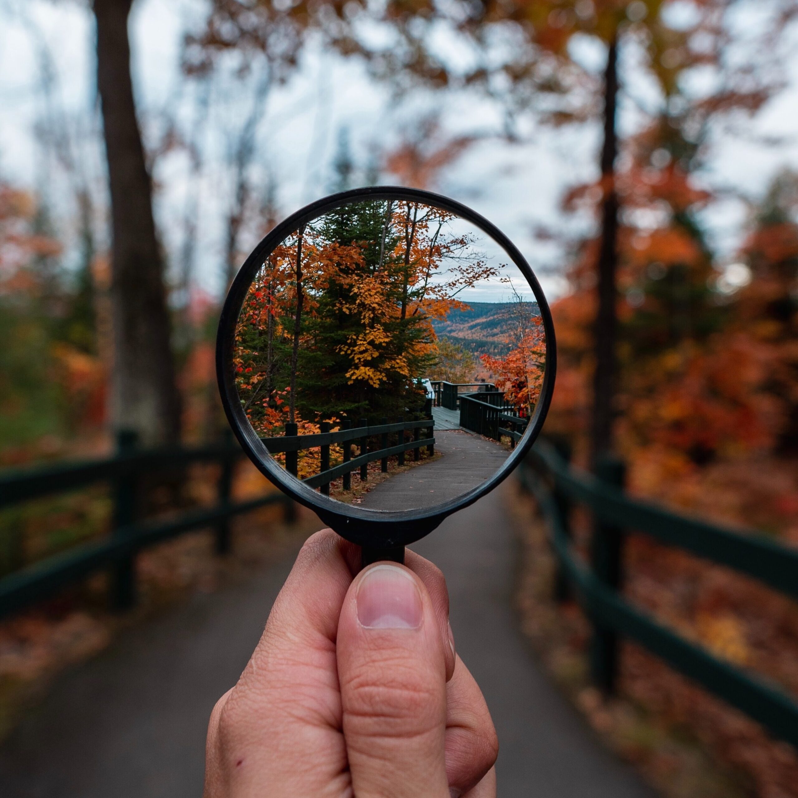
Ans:
{"label": "sharp grey paved path seen inside the magnifying lens", "polygon": [[435,429],[437,460],[389,476],[365,493],[361,507],[374,510],[407,510],[432,507],[467,493],[500,468],[510,452],[495,440],[464,429]]}

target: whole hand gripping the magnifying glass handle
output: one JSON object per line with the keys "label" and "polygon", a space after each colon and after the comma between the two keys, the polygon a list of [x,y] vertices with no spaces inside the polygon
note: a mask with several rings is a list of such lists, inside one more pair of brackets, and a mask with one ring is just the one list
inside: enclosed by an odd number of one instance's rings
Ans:
{"label": "whole hand gripping the magnifying glass handle", "polygon": [[496,796],[496,732],[443,575],[411,551],[406,567],[358,559],[329,529],[302,547],[211,714],[205,798]]}

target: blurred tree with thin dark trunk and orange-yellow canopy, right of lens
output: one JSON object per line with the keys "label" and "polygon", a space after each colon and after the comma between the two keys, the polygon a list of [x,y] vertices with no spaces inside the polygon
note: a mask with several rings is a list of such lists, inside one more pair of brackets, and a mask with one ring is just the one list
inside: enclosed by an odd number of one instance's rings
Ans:
{"label": "blurred tree with thin dark trunk and orange-yellow canopy, right of lens", "polygon": [[[400,14],[401,26],[413,41],[421,41],[424,34],[413,32],[409,13],[402,14],[399,4],[391,9]],[[432,4],[430,4],[432,6]],[[682,4],[684,5],[684,4]],[[593,401],[591,405],[591,462],[612,448],[612,429],[617,389],[617,302],[618,302],[618,213],[619,197],[615,164],[618,155],[617,97],[618,50],[624,41],[638,45],[645,54],[649,72],[658,83],[662,101],[667,106],[678,95],[681,73],[697,65],[721,64],[721,44],[728,44],[722,16],[728,4],[725,0],[704,0],[693,4],[695,18],[685,25],[677,14],[670,14],[669,0],[483,0],[472,6],[470,14],[462,14],[455,27],[471,34],[472,41],[492,52],[490,30],[511,26],[521,41],[517,54],[511,54],[499,68],[487,69],[484,61],[472,71],[472,80],[503,74],[510,85],[522,89],[521,97],[531,93],[537,102],[549,102],[543,117],[555,124],[584,120],[599,113],[602,119],[602,148],[599,156],[601,180],[601,211],[599,247],[595,255],[596,294],[594,326]],[[784,10],[789,3],[781,4]],[[779,4],[777,3],[778,7]],[[435,6],[437,8],[437,6]],[[432,8],[430,8],[432,10]],[[414,11],[417,11],[414,9]],[[433,14],[437,16],[437,14]],[[414,25],[416,31],[419,26]],[[774,28],[774,30],[776,30]],[[606,48],[606,63],[600,81],[601,107],[596,108],[590,96],[595,78],[586,73],[573,57],[575,36],[598,39]],[[702,44],[699,44],[701,38]],[[706,39],[709,38],[709,48]],[[770,87],[763,74],[747,69],[739,73],[725,71],[725,81],[715,97],[710,98],[716,108],[721,106],[757,107],[768,96]],[[492,73],[492,75],[491,75]],[[709,102],[709,101],[708,101]]]}

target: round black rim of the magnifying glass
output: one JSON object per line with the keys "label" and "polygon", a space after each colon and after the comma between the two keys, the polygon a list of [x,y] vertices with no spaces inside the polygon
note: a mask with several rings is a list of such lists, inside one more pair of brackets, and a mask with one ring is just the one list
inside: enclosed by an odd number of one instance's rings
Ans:
{"label": "round black rim of the magnifying glass", "polygon": [[[519,268],[524,278],[529,283],[535,300],[538,302],[543,330],[546,334],[546,373],[543,377],[543,387],[540,399],[535,406],[527,432],[516,444],[510,456],[504,461],[502,467],[484,483],[476,488],[433,508],[421,508],[402,511],[385,511],[358,508],[356,505],[344,504],[328,496],[314,491],[307,485],[287,474],[285,469],[267,452],[263,441],[252,429],[247,416],[243,412],[235,388],[235,371],[233,369],[233,350],[235,347],[235,326],[238,322],[239,312],[246,297],[247,290],[258,269],[262,266],[267,253],[271,252],[286,235],[295,231],[304,223],[310,222],[319,215],[333,211],[336,207],[365,199],[401,199],[416,201],[439,207],[460,215],[468,222],[479,227],[500,245]],[[440,522],[462,508],[468,507],[486,493],[496,488],[512,473],[516,466],[523,460],[523,456],[535,443],[535,439],[543,427],[554,384],[557,368],[557,347],[555,342],[554,323],[551,319],[551,310],[543,295],[543,290],[532,272],[529,264],[521,255],[515,244],[496,225],[471,208],[456,202],[454,199],[423,191],[419,188],[405,188],[402,186],[370,186],[368,188],[354,188],[350,191],[339,192],[331,196],[318,199],[310,205],[302,207],[287,219],[279,223],[269,232],[251,255],[243,263],[239,273],[235,276],[227,298],[224,301],[222,312],[219,316],[219,329],[216,336],[216,377],[219,382],[219,393],[222,399],[224,412],[227,416],[235,437],[239,440],[244,452],[255,464],[256,468],[271,480],[278,488],[292,499],[305,507],[310,508],[324,521],[353,543],[370,547],[399,547],[421,539],[432,531]]]}

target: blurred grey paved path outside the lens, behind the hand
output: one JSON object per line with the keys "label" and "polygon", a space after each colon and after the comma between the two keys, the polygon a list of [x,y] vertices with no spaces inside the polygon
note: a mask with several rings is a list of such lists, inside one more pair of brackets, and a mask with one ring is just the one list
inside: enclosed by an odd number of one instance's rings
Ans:
{"label": "blurred grey paved path outside the lens, behind the hand", "polygon": [[[543,678],[516,630],[501,494],[414,546],[447,576],[456,646],[499,733],[499,795],[653,798]],[[65,674],[0,751],[3,798],[198,798],[207,717],[247,662],[289,568],[290,559],[196,595]]]}

